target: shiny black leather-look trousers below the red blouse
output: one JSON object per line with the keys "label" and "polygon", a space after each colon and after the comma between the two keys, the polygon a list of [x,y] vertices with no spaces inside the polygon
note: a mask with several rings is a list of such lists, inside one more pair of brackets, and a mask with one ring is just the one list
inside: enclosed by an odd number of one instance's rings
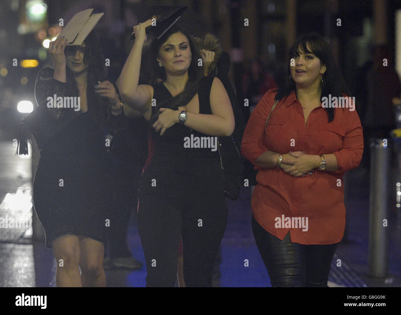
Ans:
{"label": "shiny black leather-look trousers below the red blouse", "polygon": [[252,216],[257,248],[269,273],[272,287],[328,287],[328,275],[338,243],[303,245],[267,232]]}

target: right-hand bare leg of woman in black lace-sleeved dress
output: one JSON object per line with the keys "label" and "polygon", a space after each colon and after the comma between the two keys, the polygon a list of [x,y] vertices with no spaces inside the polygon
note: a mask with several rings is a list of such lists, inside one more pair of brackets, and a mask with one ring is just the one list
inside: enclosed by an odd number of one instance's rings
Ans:
{"label": "right-hand bare leg of woman in black lace-sleeved dress", "polygon": [[79,237],[81,250],[81,280],[83,287],[105,287],[106,275],[103,270],[104,245],[85,236]]}

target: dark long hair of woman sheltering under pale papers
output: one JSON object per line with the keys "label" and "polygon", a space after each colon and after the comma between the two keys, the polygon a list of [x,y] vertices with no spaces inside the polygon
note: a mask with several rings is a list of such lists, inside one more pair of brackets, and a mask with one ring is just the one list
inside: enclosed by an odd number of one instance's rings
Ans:
{"label": "dark long hair of woman sheltering under pale papers", "polygon": [[[107,68],[105,66],[105,59],[101,51],[99,40],[96,33],[92,30],[91,33],[85,38],[85,53],[83,55],[83,62],[85,65],[89,64],[87,70],[87,104],[88,110],[99,129],[103,130],[105,120],[107,118],[107,99],[95,93],[95,85],[98,81],[105,81],[107,78]],[[73,72],[66,67],[67,76],[67,91],[69,94],[78,96],[77,83],[75,82]]]}

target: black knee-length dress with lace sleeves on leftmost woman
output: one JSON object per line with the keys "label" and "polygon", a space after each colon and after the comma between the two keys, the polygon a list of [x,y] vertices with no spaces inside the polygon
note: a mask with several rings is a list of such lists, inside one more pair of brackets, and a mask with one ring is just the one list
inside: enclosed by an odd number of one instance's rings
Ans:
{"label": "black knee-length dress with lace sleeves on leftmost woman", "polygon": [[[66,93],[66,83],[53,79],[53,69],[44,68],[38,73],[35,85],[38,106],[46,106],[48,96],[65,96]],[[49,248],[53,240],[66,234],[105,241],[110,209],[107,146],[104,130],[96,121],[102,113],[99,114],[94,105],[93,99],[88,97],[85,113],[68,112],[66,108],[49,109],[55,120],[75,115],[71,124],[41,150],[34,177],[34,208]],[[119,116],[109,116],[111,130],[124,125],[124,114]]]}

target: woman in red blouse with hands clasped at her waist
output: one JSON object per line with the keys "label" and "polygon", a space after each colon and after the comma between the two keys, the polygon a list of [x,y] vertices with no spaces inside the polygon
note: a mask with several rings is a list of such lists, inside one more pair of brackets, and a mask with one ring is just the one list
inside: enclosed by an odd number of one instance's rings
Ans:
{"label": "woman in red blouse with hands clasped at her waist", "polygon": [[328,43],[305,35],[290,49],[288,82],[263,96],[245,128],[242,154],[259,170],[253,234],[273,287],[327,287],[344,235],[342,177],[363,153],[348,96]]}

